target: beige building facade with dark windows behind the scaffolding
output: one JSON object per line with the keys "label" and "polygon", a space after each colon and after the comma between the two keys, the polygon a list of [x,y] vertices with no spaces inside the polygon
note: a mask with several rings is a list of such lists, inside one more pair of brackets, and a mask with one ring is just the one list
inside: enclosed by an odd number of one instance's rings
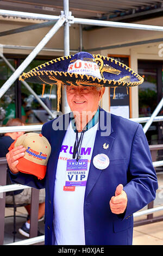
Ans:
{"label": "beige building facade with dark windows behind the scaffolding", "polygon": [[[0,32],[10,29],[41,23],[39,20],[0,17]],[[162,26],[162,17],[144,20],[146,25]],[[26,32],[0,36],[0,51],[9,63],[16,69],[32,51],[51,27],[33,29]],[[80,51],[80,25],[70,26],[70,54]],[[82,48],[93,54],[101,54],[116,58],[130,66],[131,69],[143,76],[145,82],[139,87],[130,88],[127,94],[124,88],[116,91],[116,99],[112,100],[112,90],[106,88],[102,106],[106,111],[122,115],[126,118],[150,117],[159,101],[162,99],[162,68],[163,68],[163,39],[162,33],[140,29],[92,27],[83,29]],[[48,60],[64,56],[64,28],[47,43],[45,50],[40,51],[32,63],[26,68],[29,71]],[[13,71],[0,59],[0,87],[8,80]],[[42,87],[30,83],[29,86],[42,99],[52,112],[57,110],[57,90],[46,87],[43,98]],[[42,124],[52,119],[39,104],[29,90],[16,80],[0,99],[1,126],[11,117],[20,117],[26,124]],[[61,105],[61,111],[64,109]],[[159,115],[162,115],[162,110]],[[152,123],[146,133],[149,144],[162,143],[162,122]]]}

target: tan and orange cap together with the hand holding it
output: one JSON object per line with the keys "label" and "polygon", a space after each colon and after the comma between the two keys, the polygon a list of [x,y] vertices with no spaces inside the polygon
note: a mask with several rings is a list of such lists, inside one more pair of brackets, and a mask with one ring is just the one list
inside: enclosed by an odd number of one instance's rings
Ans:
{"label": "tan and orange cap together with the hand holding it", "polygon": [[51,145],[48,140],[42,134],[29,132],[11,144],[7,161],[12,173],[20,171],[43,179],[50,154]]}

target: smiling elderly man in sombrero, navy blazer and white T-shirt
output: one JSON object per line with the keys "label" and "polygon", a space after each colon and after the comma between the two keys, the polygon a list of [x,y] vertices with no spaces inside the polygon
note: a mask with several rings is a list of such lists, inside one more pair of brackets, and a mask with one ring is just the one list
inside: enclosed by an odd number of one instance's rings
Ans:
{"label": "smiling elderly man in sombrero, navy blazer and white T-shirt", "polygon": [[42,127],[52,147],[43,180],[18,172],[25,148],[7,156],[13,182],[46,188],[45,244],[131,245],[133,213],[154,200],[156,174],[142,126],[105,112],[99,102],[105,86],[135,86],[142,78],[116,60],[81,52],[25,79],[57,84],[58,99],[66,86],[72,111]]}

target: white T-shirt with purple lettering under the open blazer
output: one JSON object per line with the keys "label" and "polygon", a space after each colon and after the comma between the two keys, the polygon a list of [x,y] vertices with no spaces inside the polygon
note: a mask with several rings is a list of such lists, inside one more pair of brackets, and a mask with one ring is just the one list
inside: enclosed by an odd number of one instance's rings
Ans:
{"label": "white T-shirt with purple lettering under the open blazer", "polygon": [[79,172],[67,172],[66,170],[67,162],[72,160],[73,146],[76,140],[76,132],[73,131],[71,122],[66,131],[59,154],[54,188],[53,227],[56,245],[85,245],[83,212],[85,186],[78,185],[74,191],[64,191],[64,186],[67,180],[79,181],[81,184],[81,180],[85,182],[87,179],[97,127],[98,124],[86,131],[83,136],[80,156],[83,162],[87,160],[87,170],[84,172],[83,169],[80,169]]}

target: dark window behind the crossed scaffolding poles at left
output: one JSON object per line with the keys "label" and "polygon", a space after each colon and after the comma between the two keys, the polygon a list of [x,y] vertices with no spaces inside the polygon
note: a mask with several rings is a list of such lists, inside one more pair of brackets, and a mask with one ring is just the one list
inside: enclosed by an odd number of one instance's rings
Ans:
{"label": "dark window behind the crossed scaffolding poles at left", "polygon": [[[23,59],[8,59],[12,66],[16,69],[23,62]],[[33,60],[24,72],[27,72],[35,66],[47,62],[46,59]],[[10,68],[1,60],[0,62],[0,87],[12,75]],[[57,87],[46,86],[45,93],[42,97],[42,85],[37,83],[28,83],[37,96],[52,111],[57,110]],[[51,92],[51,96],[50,96]],[[8,91],[0,99],[0,125],[5,125],[10,118],[19,117],[26,124],[43,124],[52,117],[47,113],[40,103],[35,99],[34,95],[21,83],[16,81]],[[18,112],[19,111],[19,112]]]}

